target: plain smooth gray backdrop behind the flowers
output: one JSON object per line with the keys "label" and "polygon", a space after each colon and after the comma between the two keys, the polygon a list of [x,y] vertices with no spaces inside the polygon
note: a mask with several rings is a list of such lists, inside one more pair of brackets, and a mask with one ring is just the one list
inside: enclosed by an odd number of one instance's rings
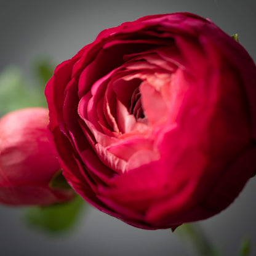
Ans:
{"label": "plain smooth gray backdrop behind the flowers", "polygon": [[[72,57],[105,28],[149,14],[188,11],[210,18],[256,60],[256,4],[244,0],[0,1],[0,72],[20,66],[30,77],[31,60],[47,55],[54,63]],[[237,255],[248,236],[256,255],[256,179],[215,217],[199,222],[223,255]],[[0,206],[0,255],[194,255],[178,233],[145,231],[88,207],[70,234],[49,236],[28,228],[21,210]]]}

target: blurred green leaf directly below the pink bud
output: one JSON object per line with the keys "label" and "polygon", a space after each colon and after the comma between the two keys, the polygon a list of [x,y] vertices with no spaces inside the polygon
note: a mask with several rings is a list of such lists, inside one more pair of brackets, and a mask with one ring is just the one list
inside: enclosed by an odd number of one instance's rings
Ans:
{"label": "blurred green leaf directly below the pink bud", "polygon": [[84,205],[82,198],[76,195],[70,202],[47,207],[32,207],[26,210],[26,223],[52,234],[63,233],[74,226]]}

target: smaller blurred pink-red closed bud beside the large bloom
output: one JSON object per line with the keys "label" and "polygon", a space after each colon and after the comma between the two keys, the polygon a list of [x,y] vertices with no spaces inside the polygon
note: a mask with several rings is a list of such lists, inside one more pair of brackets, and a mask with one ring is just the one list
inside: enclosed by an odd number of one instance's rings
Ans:
{"label": "smaller blurred pink-red closed bud beside the large bloom", "polygon": [[60,170],[47,138],[46,108],[25,108],[0,119],[0,203],[41,205],[73,198],[72,190],[50,188]]}

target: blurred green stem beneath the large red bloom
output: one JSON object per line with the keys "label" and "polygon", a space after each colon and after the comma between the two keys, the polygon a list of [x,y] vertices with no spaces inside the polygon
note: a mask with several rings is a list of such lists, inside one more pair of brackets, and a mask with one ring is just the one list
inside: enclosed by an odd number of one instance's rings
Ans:
{"label": "blurred green stem beneath the large red bloom", "polygon": [[212,246],[202,228],[196,223],[185,223],[177,229],[180,236],[194,247],[200,256],[217,256],[217,250]]}

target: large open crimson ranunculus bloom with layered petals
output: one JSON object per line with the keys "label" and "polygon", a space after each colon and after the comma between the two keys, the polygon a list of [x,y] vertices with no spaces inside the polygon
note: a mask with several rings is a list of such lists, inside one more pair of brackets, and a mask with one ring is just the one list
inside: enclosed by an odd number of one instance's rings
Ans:
{"label": "large open crimson ranunculus bloom with layered petals", "polygon": [[47,83],[63,173],[140,228],[208,218],[256,168],[256,68],[210,20],[153,15],[102,31]]}

